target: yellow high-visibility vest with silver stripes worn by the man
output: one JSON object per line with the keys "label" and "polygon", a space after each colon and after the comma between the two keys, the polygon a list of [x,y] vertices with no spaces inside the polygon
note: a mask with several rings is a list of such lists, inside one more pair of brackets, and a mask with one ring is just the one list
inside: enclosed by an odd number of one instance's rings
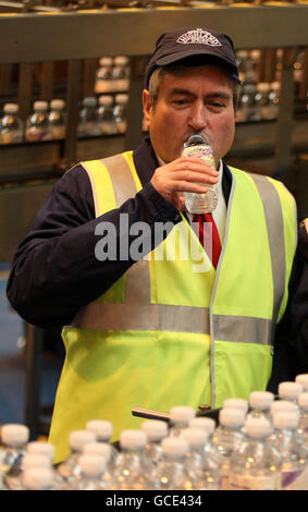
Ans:
{"label": "yellow high-visibility vest with silver stripes worn by the man", "polygon": [[[132,151],[83,164],[97,217],[141,188]],[[70,452],[70,431],[89,419],[112,422],[116,440],[122,429],[139,427],[133,407],[219,407],[229,397],[266,389],[274,327],[287,302],[296,208],[282,183],[231,172],[217,270],[183,217],[63,328],[66,356],[49,438],[56,462]]]}

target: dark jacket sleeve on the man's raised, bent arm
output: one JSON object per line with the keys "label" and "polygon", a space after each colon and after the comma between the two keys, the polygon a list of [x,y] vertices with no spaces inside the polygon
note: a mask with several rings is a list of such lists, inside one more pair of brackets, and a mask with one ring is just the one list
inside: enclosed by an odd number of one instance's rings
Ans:
{"label": "dark jacket sleeve on the man's raised, bent arm", "polygon": [[[178,211],[150,183],[119,209],[95,218],[91,187],[82,166],[66,172],[38,211],[29,233],[19,245],[7,285],[7,295],[19,315],[47,328],[67,325],[78,309],[108,290],[135,259],[98,259],[96,229],[101,222],[115,227],[119,249],[120,214],[127,214],[128,235],[134,222],[174,221]],[[100,224],[101,225],[101,224]],[[153,236],[147,251],[155,246]]]}

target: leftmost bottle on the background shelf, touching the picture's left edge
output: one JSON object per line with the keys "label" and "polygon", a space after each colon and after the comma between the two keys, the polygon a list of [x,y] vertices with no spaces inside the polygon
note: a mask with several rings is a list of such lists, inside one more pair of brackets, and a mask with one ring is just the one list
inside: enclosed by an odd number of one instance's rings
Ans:
{"label": "leftmost bottle on the background shelf, touching the picture's left edge", "polygon": [[22,143],[24,138],[23,121],[19,117],[17,103],[5,103],[0,120],[0,144]]}

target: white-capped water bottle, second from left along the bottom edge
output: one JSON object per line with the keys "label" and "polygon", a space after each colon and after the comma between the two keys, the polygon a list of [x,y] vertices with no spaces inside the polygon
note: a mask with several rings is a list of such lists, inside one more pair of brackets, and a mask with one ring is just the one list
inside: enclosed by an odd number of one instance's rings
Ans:
{"label": "white-capped water bottle, second from left along the bottom edge", "polygon": [[84,454],[79,458],[81,478],[75,490],[111,490],[114,484],[107,468],[107,460],[97,454]]}

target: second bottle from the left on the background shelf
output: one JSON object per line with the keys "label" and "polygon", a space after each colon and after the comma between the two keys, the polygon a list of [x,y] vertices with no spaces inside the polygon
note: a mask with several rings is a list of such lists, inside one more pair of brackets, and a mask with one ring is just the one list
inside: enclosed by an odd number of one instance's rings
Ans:
{"label": "second bottle from the left on the background shelf", "polygon": [[51,139],[47,101],[34,101],[33,113],[30,113],[30,115],[26,120],[25,139],[27,142],[40,142]]}

